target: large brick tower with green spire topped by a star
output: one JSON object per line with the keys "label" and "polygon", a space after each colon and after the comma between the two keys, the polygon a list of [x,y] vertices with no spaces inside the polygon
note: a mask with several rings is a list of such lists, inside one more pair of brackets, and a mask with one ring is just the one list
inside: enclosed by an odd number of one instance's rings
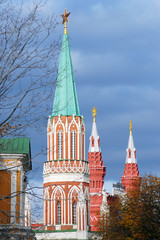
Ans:
{"label": "large brick tower with green spire topped by a star", "polygon": [[52,115],[48,119],[48,159],[44,163],[46,230],[77,229],[87,238],[90,225],[89,163],[85,161],[85,124],[80,114],[66,22]]}

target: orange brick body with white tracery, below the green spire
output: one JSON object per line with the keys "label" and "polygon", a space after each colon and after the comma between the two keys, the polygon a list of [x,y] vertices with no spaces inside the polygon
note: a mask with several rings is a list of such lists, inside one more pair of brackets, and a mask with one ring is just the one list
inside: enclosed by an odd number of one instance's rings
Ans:
{"label": "orange brick body with white tracery, below the green spire", "polygon": [[[84,232],[87,230],[87,222],[89,222],[87,220],[87,209],[89,209],[88,206],[90,204],[89,188],[83,185],[83,183],[89,183],[89,163],[84,161],[85,149],[83,150],[83,148],[85,148],[85,126],[83,118],[77,118],[75,115],[72,116],[72,120],[66,117],[65,123],[62,122],[62,119],[59,115],[58,120],[57,117],[53,117],[53,123],[52,121],[49,123],[52,141],[54,141],[54,146],[52,146],[54,150],[54,152],[52,150],[52,159],[54,160],[44,163],[43,177],[45,184],[55,183],[56,185],[52,187],[48,185],[50,202],[47,211],[48,215],[46,216],[46,225],[51,225],[53,229],[57,230],[63,229],[62,225],[74,224],[73,228]],[[71,122],[68,123],[70,120]],[[59,133],[61,133],[62,136],[61,139],[57,141]],[[68,137],[66,139],[65,136],[67,135]],[[71,140],[73,146],[71,146]],[[61,144],[61,146],[63,145],[63,154],[61,154],[61,156],[57,154],[60,153],[59,144]],[[66,144],[68,145],[68,150],[66,149]],[[63,185],[60,184],[61,182]],[[68,185],[68,190],[65,182]],[[69,182],[72,182],[71,185],[69,185]],[[80,184],[78,186],[76,185],[77,183],[73,185],[73,182],[79,182]],[[57,202],[59,202],[61,206],[61,222],[59,222],[58,226],[57,210],[59,208]],[[76,210],[76,218],[75,214],[73,216],[73,209],[74,211]],[[77,224],[77,226],[75,224]]]}

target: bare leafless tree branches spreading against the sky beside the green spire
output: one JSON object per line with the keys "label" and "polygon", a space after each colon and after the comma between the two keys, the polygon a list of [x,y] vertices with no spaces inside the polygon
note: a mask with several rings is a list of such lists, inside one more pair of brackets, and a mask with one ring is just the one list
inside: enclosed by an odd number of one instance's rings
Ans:
{"label": "bare leafless tree branches spreading against the sky beside the green spire", "polygon": [[0,1],[0,127],[22,124],[7,134],[18,135],[22,127],[43,121],[54,91],[58,22],[54,15],[41,17],[42,7]]}

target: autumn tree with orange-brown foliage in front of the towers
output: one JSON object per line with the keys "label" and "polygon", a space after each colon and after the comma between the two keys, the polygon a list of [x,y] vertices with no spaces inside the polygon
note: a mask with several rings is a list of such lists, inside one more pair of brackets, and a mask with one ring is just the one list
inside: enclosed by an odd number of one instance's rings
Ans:
{"label": "autumn tree with orange-brown foliage in front of the towers", "polygon": [[99,220],[104,240],[160,239],[160,178],[145,176],[140,189],[118,198]]}

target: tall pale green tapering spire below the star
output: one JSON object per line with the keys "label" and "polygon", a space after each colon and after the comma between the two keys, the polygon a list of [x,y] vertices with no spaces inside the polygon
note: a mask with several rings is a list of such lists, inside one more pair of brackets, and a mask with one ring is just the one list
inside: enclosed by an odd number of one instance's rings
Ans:
{"label": "tall pale green tapering spire below the star", "polygon": [[64,33],[52,116],[80,116],[68,34]]}

